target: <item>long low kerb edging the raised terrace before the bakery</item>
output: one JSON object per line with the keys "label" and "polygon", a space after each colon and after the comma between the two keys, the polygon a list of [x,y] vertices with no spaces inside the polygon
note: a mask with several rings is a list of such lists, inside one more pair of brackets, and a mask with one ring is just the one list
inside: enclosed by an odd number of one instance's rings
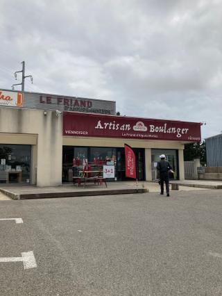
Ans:
{"label": "long low kerb edging the raised terrace before the bakery", "polygon": [[94,195],[125,195],[133,193],[146,193],[147,188],[137,189],[111,189],[111,190],[91,190],[91,191],[69,191],[69,192],[42,192],[42,193],[27,193],[16,194],[8,190],[0,189],[5,195],[12,199],[41,199],[41,198],[56,198],[56,197],[86,197]]}

